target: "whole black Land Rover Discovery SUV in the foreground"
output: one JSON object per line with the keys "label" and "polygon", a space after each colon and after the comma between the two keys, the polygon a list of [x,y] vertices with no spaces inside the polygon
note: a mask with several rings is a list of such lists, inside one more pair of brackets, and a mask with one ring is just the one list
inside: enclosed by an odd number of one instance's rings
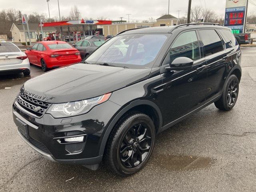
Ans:
{"label": "whole black Land Rover Discovery SUV in the foreground", "polygon": [[150,158],[156,134],[238,98],[241,51],[218,24],[126,30],[85,61],[28,80],[13,104],[18,134],[45,158],[122,176]]}

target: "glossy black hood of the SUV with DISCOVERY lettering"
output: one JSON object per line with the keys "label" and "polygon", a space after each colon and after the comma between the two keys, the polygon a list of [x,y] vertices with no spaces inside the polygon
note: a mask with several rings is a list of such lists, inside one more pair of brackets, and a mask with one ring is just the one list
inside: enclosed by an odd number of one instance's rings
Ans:
{"label": "glossy black hood of the SUV with DISCOVERY lettering", "polygon": [[49,103],[93,98],[148,78],[150,69],[78,63],[36,76],[22,86],[25,94]]}

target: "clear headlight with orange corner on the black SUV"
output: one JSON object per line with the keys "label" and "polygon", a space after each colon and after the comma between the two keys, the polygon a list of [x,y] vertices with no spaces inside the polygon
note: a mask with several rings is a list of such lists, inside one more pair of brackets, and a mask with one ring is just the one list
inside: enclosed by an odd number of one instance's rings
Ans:
{"label": "clear headlight with orange corner on the black SUV", "polygon": [[102,96],[94,97],[87,100],[52,104],[52,106],[50,106],[50,108],[48,109],[47,113],[51,114],[55,118],[85,114],[90,111],[94,106],[107,101],[110,96],[111,93],[107,93]]}

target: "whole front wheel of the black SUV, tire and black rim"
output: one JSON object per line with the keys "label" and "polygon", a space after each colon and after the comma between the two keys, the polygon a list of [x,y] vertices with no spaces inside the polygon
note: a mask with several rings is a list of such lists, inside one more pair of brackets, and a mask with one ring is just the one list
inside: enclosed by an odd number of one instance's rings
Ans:
{"label": "whole front wheel of the black SUV, tire and black rim", "polygon": [[124,115],[108,138],[104,164],[120,176],[138,172],[152,154],[155,135],[154,123],[146,114],[130,112]]}

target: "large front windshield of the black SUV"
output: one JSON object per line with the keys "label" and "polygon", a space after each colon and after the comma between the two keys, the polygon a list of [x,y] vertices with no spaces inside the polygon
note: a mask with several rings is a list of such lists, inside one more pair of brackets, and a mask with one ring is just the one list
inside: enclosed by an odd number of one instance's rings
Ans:
{"label": "large front windshield of the black SUV", "polygon": [[90,64],[151,68],[168,34],[128,34],[111,38],[86,59]]}

